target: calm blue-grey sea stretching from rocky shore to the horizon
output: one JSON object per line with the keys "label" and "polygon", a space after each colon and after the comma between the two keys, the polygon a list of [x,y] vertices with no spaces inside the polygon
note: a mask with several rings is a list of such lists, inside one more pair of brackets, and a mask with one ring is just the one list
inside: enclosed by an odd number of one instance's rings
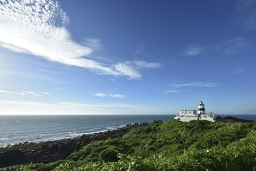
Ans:
{"label": "calm blue-grey sea stretching from rocky shore to the horizon", "polygon": [[[75,138],[129,123],[170,120],[175,115],[0,115],[0,147],[20,142]],[[220,115],[224,116],[224,115]],[[256,120],[256,115],[233,115]]]}

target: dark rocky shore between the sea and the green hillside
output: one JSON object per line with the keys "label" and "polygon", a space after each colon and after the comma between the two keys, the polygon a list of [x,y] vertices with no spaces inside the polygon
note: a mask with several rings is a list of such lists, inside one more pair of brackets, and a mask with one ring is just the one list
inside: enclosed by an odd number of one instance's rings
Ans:
{"label": "dark rocky shore between the sea and the green hillside", "polygon": [[82,135],[79,138],[40,143],[23,142],[18,145],[0,148],[0,167],[28,164],[31,162],[48,163],[62,160],[92,141],[122,137],[124,134],[129,133],[129,130],[146,125],[149,125],[149,123],[135,123],[125,125],[116,130]]}

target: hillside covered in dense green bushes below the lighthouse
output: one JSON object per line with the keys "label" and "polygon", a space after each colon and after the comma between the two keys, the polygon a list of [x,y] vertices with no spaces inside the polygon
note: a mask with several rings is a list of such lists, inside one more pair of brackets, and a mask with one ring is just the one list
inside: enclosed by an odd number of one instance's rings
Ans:
{"label": "hillside covered in dense green bushes below the lighthouse", "polygon": [[3,170],[256,170],[256,123],[171,119],[91,142],[67,160]]}

